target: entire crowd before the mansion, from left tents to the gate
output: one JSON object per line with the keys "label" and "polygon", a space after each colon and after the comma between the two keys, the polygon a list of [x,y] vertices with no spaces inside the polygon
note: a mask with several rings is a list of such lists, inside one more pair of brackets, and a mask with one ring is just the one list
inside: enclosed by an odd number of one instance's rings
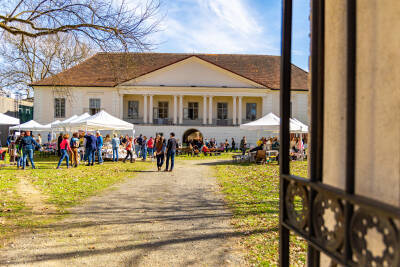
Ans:
{"label": "entire crowd before the mansion, from left tents to the gate", "polygon": [[[51,134],[48,135],[48,143],[52,141]],[[146,161],[156,159],[157,169],[162,170],[162,166],[166,163],[165,170],[172,171],[174,168],[175,155],[178,151],[182,151],[182,144],[178,144],[175,134],[171,133],[168,141],[162,134],[157,134],[155,138],[152,136],[147,138],[140,134],[133,136],[118,136],[113,134],[106,135],[105,138],[100,132],[74,132],[72,136],[60,133],[57,138],[57,154],[59,156],[57,169],[61,168],[62,162],[65,160],[67,168],[77,167],[79,164],[93,166],[96,158],[98,164],[103,164],[103,146],[111,144],[112,161],[119,161],[121,149],[125,150],[126,156],[122,159],[123,163],[130,161],[135,162],[136,159]],[[19,136],[10,135],[7,138],[7,145],[10,154],[10,162],[16,163],[17,168],[25,169],[30,165],[35,168],[34,153],[43,146],[40,134],[33,136],[30,131],[23,131]],[[257,150],[279,150],[279,141],[277,137],[261,138],[257,141],[255,147],[249,147],[245,136],[240,140],[237,146],[234,138],[229,141],[220,142],[219,145],[215,138],[194,138],[188,140],[186,149],[192,155],[211,155],[210,152],[236,152],[238,149],[242,155],[246,152],[254,152]],[[290,141],[290,157],[296,159],[307,148],[306,140],[293,136]],[[125,153],[124,153],[125,154]]]}

